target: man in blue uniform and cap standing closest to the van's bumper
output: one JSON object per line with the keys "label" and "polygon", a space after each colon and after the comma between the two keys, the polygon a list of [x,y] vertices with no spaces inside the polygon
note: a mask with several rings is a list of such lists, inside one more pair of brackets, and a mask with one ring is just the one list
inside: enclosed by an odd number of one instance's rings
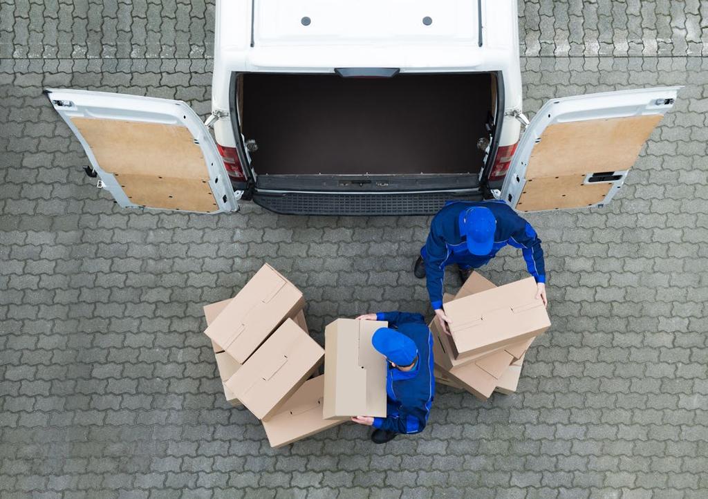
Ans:
{"label": "man in blue uniform and cap standing closest to the van's bumper", "polygon": [[443,331],[450,333],[450,318],[442,310],[445,267],[456,263],[464,282],[473,269],[489,262],[507,244],[521,248],[526,267],[538,285],[536,297],[547,305],[541,239],[506,202],[449,202],[435,214],[413,273],[420,279],[426,277],[430,304]]}

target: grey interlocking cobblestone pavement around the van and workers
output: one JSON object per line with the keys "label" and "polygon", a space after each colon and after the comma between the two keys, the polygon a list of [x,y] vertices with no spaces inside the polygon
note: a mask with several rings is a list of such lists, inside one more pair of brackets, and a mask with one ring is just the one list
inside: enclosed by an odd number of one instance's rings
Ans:
{"label": "grey interlocking cobblestone pavement around the van and workers", "polygon": [[[685,88],[610,207],[528,217],[553,326],[518,394],[442,386],[421,435],[374,447],[343,425],[272,450],[222,400],[202,304],[268,261],[304,290],[319,340],[336,316],[430,313],[410,272],[428,218],[115,207],[42,86],[206,115],[213,5],[0,0],[0,496],[705,498],[708,3],[520,7],[529,110]],[[521,277],[523,259],[484,275]]]}

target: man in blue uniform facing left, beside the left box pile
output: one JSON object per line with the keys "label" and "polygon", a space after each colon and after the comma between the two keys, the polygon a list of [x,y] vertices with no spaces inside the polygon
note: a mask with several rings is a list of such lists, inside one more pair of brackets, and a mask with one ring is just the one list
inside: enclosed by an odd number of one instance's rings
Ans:
{"label": "man in blue uniform facing left, beside the left box pile", "polygon": [[435,394],[433,335],[421,314],[379,312],[357,319],[388,321],[379,328],[372,345],[387,360],[385,418],[360,415],[352,420],[376,428],[371,440],[384,444],[399,433],[418,433],[426,428]]}

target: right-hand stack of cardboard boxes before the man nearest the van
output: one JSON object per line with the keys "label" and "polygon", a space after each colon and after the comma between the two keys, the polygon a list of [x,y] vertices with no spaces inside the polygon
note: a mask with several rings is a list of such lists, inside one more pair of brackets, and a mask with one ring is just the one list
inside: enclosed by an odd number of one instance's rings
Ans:
{"label": "right-hand stack of cardboard boxes before the man nearest the van", "polygon": [[513,393],[526,350],[551,325],[536,293],[533,277],[496,287],[472,273],[457,295],[445,295],[451,334],[430,322],[436,381],[483,401],[495,390]]}

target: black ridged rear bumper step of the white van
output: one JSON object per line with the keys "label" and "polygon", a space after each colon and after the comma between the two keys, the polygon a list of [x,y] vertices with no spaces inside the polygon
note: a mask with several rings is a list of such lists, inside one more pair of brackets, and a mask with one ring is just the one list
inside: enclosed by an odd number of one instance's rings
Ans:
{"label": "black ridged rear bumper step of the white van", "polygon": [[481,201],[479,190],[428,193],[253,193],[253,202],[276,213],[308,215],[430,215],[446,201]]}

